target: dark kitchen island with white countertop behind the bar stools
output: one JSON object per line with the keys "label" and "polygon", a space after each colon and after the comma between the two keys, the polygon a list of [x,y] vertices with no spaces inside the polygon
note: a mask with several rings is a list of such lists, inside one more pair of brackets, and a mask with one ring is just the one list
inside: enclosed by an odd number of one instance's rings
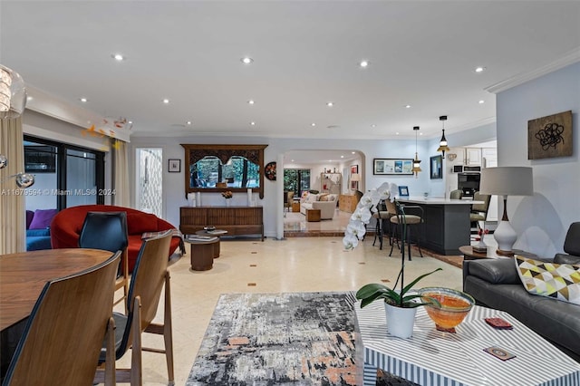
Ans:
{"label": "dark kitchen island with white countertop behind the bar stools", "polygon": [[420,246],[440,255],[461,255],[459,246],[469,246],[469,211],[481,201],[449,198],[399,198],[403,205],[417,205],[424,211]]}

